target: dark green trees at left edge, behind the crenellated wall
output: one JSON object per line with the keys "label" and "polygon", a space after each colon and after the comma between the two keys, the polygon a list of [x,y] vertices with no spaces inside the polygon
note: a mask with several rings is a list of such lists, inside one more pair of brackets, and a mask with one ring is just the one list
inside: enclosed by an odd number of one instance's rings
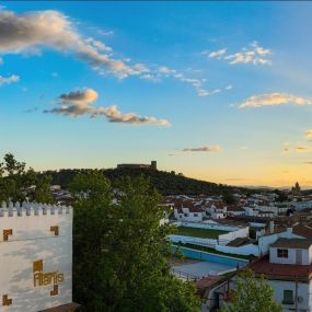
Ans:
{"label": "dark green trees at left edge, behind the crenellated wall", "polygon": [[[50,182],[50,176],[39,176],[32,167],[26,169],[24,162],[7,153],[0,163],[0,201],[23,201],[27,197],[30,200],[53,203]],[[31,186],[35,186],[34,190],[26,192]]]}

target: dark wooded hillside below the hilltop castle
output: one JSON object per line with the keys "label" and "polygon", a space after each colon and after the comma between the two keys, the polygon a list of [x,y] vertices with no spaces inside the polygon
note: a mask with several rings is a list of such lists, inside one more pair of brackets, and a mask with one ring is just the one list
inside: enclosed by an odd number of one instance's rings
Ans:
{"label": "dark wooded hillside below the hilltop castle", "polygon": [[[45,174],[48,174],[53,177],[53,184],[61,185],[67,188],[73,177],[79,173],[90,173],[92,170],[82,169],[82,170],[60,170],[60,171],[47,171]],[[124,176],[140,176],[143,175],[149,177],[150,183],[158,192],[162,195],[227,195],[230,198],[230,193],[234,192],[256,192],[249,190],[242,187],[231,187],[223,184],[216,184],[206,181],[199,181],[195,178],[185,177],[174,172],[157,171],[157,170],[147,170],[147,169],[107,169],[100,170],[115,186],[117,181]],[[230,198],[231,200],[232,198]]]}

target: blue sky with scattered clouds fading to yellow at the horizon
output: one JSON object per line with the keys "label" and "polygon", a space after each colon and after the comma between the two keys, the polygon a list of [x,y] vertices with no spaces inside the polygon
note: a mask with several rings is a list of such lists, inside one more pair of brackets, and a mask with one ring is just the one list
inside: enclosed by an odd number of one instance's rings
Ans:
{"label": "blue sky with scattered clouds fading to yellow at the horizon", "polygon": [[0,2],[0,155],[312,186],[312,2]]}

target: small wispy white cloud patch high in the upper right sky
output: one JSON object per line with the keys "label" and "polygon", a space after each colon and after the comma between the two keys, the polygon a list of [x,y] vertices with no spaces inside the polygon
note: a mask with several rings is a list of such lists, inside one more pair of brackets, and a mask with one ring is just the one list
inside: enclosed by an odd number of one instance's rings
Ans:
{"label": "small wispy white cloud patch high in the upper right sky", "polygon": [[[252,65],[270,65],[269,59],[271,50],[258,45],[257,42],[250,44],[249,48],[242,48],[234,54],[228,54],[227,48],[222,48],[216,51],[211,51],[208,57],[216,59],[227,60],[231,65],[235,63],[252,63]],[[204,51],[203,54],[207,54]]]}

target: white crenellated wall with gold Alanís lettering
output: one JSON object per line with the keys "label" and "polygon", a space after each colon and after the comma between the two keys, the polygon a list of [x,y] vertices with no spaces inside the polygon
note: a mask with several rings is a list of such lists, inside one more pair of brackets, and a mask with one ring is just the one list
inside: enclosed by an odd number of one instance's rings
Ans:
{"label": "white crenellated wall with gold Alan\u00eds lettering", "polygon": [[0,311],[36,312],[72,302],[72,208],[0,208]]}

